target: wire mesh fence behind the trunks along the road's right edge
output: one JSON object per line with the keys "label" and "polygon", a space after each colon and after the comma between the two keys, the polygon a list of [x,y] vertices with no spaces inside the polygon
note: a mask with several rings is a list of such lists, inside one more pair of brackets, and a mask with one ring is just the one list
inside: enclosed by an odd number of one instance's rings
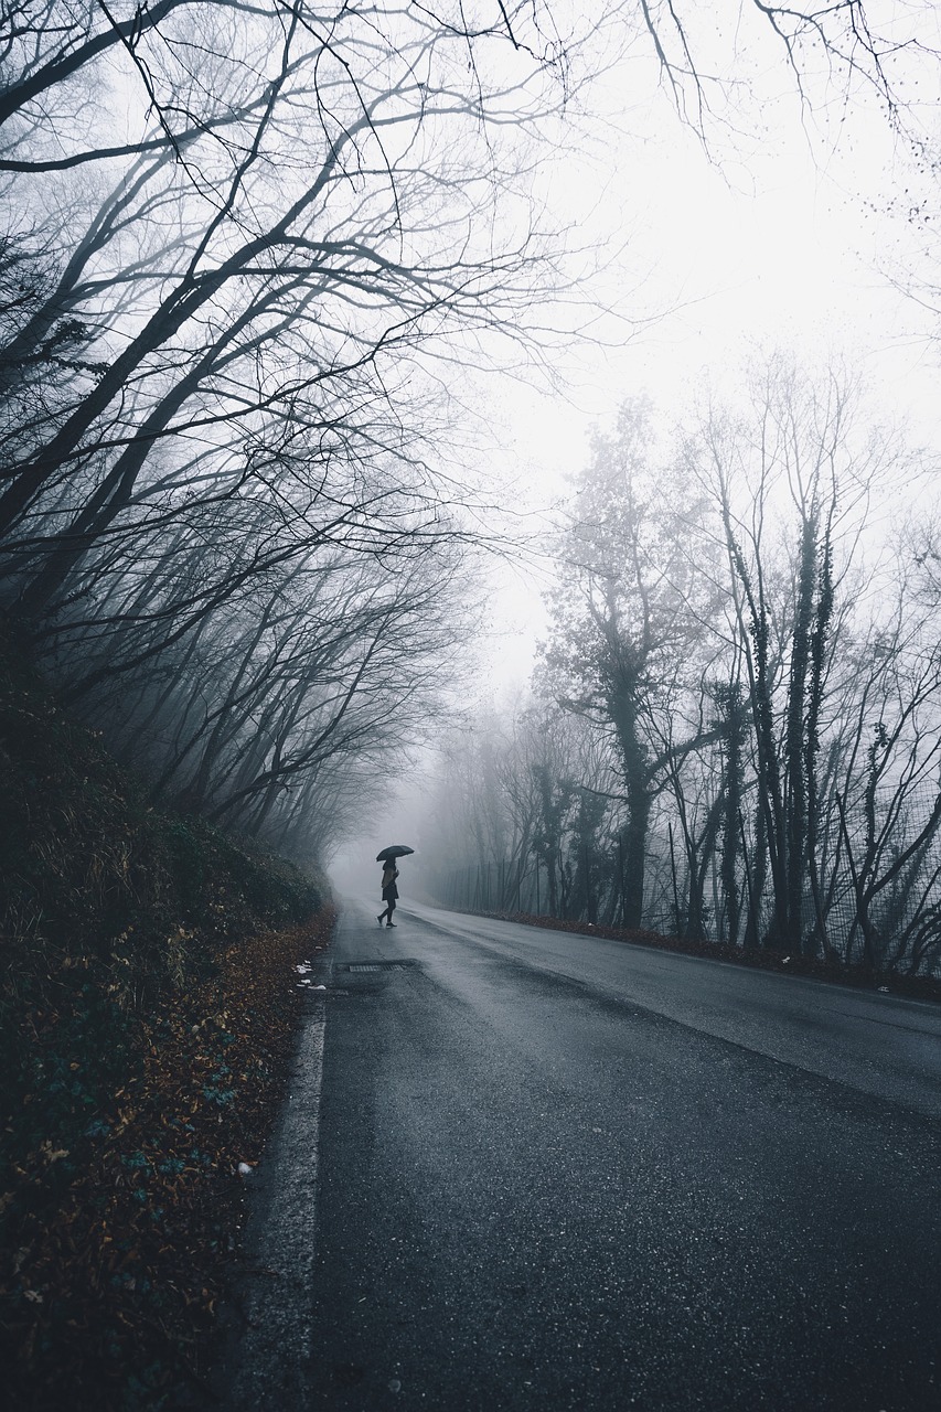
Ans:
{"label": "wire mesh fence behind the trunks along the road's right edge", "polygon": [[[795,950],[906,974],[941,974],[941,827],[911,851],[935,799],[937,788],[925,782],[906,799],[904,809],[892,812],[890,802],[882,799],[870,813],[858,803],[842,825],[832,815],[818,840],[812,874],[807,870]],[[877,847],[870,857],[873,842]],[[860,860],[868,858],[870,871],[860,878]],[[623,925],[623,850],[617,842],[591,856],[579,849],[560,851],[554,874],[551,878],[545,863],[526,853],[445,871],[435,892],[442,905],[458,911]],[[766,878],[760,897],[750,895],[754,884],[746,849],[738,863],[735,899],[723,885],[718,847],[697,875],[695,888],[691,881],[685,850],[677,846],[670,822],[660,820],[647,837],[643,926],[722,945],[733,940],[743,946],[749,936],[759,945],[766,942],[774,894]],[[732,914],[738,916],[735,938],[729,935]]]}

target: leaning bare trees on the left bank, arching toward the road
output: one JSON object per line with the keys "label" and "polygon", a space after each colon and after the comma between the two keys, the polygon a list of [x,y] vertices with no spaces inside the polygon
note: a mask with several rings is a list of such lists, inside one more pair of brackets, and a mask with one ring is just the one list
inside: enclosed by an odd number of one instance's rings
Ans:
{"label": "leaning bare trees on the left bank, arching toward the road", "polygon": [[283,832],[461,631],[442,353],[561,280],[528,188],[578,42],[530,4],[8,18],[0,590],[160,798]]}

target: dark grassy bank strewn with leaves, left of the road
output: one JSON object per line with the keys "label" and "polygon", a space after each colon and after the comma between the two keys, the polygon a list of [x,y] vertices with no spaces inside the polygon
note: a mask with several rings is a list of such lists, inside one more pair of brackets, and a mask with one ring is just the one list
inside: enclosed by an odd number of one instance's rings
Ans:
{"label": "dark grassy bank strewn with leaves, left of the road", "polygon": [[324,888],[150,809],[4,642],[0,928],[0,1399],[178,1406]]}

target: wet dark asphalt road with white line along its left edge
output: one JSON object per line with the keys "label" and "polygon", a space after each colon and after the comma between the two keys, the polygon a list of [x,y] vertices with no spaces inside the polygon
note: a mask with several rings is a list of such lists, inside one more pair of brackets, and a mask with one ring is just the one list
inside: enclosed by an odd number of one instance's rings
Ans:
{"label": "wet dark asphalt road with white line along its left edge", "polygon": [[941,1007],[396,916],[321,967],[244,1405],[941,1409]]}

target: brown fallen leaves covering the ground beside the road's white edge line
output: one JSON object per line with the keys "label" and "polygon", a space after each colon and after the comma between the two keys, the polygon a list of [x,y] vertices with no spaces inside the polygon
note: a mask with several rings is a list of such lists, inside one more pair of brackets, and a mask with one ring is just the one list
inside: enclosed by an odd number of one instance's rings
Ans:
{"label": "brown fallen leaves covering the ground beside the road's white edge line", "polygon": [[83,1149],[47,1138],[20,1165],[21,1192],[0,1202],[35,1199],[18,1214],[0,1299],[24,1412],[185,1405],[292,1056],[295,967],[331,926],[324,909],[226,945],[213,974],[138,1022],[136,1072],[110,1087],[112,1111],[86,1124]]}

